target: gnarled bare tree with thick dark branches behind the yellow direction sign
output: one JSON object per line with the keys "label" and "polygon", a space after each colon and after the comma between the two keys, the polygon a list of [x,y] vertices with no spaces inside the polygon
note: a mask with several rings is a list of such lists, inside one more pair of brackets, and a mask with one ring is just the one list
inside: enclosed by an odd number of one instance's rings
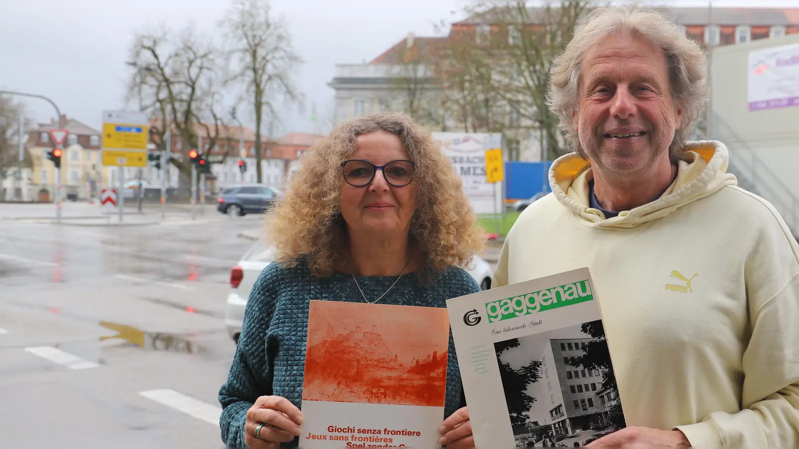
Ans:
{"label": "gnarled bare tree with thick dark branches behind the yellow direction sign", "polygon": [[[195,124],[214,114],[214,92],[220,85],[217,51],[212,42],[198,38],[191,27],[173,38],[169,30],[137,34],[131,58],[130,95],[140,94],[142,109],[156,119],[153,141],[161,142],[167,130],[181,137],[181,159],[169,157],[181,173],[189,175],[189,150],[198,149]],[[209,109],[210,108],[210,109]],[[170,153],[171,154],[171,153]],[[166,162],[166,161],[165,161]]]}

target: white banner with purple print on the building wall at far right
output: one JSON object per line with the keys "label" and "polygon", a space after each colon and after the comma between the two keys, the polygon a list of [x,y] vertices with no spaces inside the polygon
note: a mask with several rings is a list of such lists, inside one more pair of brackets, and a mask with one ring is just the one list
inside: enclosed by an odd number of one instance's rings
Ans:
{"label": "white banner with purple print on the building wall at far right", "polygon": [[799,44],[749,52],[749,110],[799,106]]}

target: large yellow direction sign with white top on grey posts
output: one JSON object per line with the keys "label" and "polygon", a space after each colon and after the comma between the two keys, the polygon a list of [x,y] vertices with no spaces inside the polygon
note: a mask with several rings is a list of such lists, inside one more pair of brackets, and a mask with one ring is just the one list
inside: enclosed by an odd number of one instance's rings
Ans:
{"label": "large yellow direction sign with white top on grey posts", "polygon": [[125,210],[125,167],[147,166],[147,114],[104,110],[102,133],[102,164],[118,167],[119,221],[122,221]]}

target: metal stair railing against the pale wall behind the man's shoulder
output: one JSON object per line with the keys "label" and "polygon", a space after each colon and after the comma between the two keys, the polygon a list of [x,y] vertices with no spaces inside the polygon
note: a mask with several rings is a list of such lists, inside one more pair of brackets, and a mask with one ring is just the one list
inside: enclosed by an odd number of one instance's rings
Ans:
{"label": "metal stair railing against the pale wall behind the man's shoulder", "polygon": [[781,214],[785,224],[799,236],[799,197],[783,182],[769,165],[757,156],[742,138],[724,119],[714,114],[714,134],[717,134],[729,149],[727,171],[737,177],[738,185],[766,201],[769,201]]}

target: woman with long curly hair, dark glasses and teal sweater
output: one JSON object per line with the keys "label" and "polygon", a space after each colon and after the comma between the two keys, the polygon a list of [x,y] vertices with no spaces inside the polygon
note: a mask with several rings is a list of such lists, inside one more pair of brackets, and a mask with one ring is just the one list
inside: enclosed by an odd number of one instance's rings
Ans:
{"label": "woman with long curly hair, dark glasses and teal sweater", "polygon": [[[276,262],[244,312],[219,400],[229,447],[296,446],[308,301],[446,307],[479,292],[463,268],[483,245],[459,177],[402,113],[344,122],[308,151],[265,226]],[[450,336],[441,443],[473,447]]]}

